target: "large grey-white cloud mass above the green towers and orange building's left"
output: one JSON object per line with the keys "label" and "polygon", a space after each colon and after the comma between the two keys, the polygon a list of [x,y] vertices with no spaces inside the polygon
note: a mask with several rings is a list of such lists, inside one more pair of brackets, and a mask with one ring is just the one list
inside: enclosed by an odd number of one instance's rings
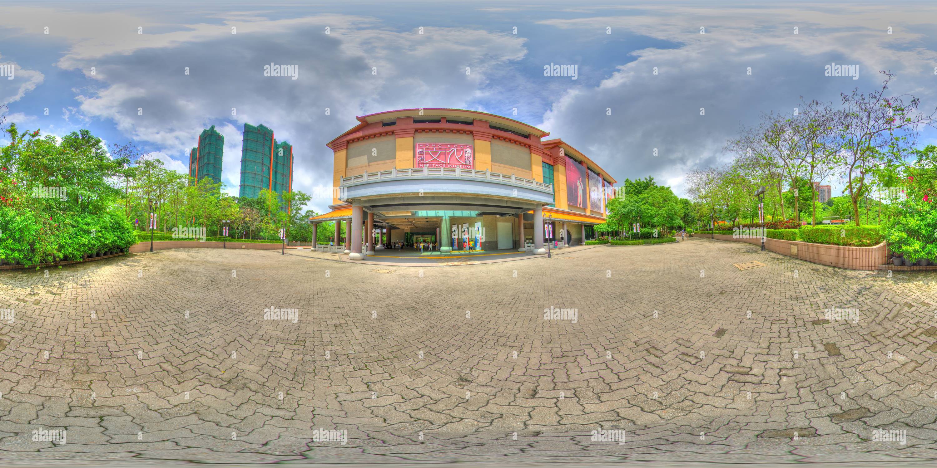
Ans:
{"label": "large grey-white cloud mass above the green towers and orange building's left", "polygon": [[[340,15],[259,21],[239,16],[226,24],[236,25],[237,34],[205,24],[144,35],[134,27],[129,37],[76,32],[58,66],[85,72],[96,67],[95,85],[77,97],[83,116],[111,120],[127,137],[181,161],[187,161],[201,130],[216,124],[225,136],[222,180],[232,195],[240,182],[243,125],[273,128],[277,140],[294,145],[293,188],[311,193],[332,183],[332,151],[325,143],[357,124],[354,116],[467,107],[492,76],[526,53],[525,39],[505,33],[425,28],[420,35]],[[271,63],[298,66],[298,80],[264,77],[263,66]],[[329,203],[318,199],[313,207],[324,211]]]}

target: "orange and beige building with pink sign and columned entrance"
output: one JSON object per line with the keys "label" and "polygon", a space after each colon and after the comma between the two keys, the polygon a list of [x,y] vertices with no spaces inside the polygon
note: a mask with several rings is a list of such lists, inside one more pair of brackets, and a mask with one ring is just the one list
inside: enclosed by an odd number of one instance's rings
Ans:
{"label": "orange and beige building with pink sign and columned entrance", "polygon": [[[578,245],[605,220],[616,183],[561,139],[473,110],[390,110],[328,143],[335,154],[335,244],[351,259],[389,243],[435,243],[439,251],[514,250],[544,242]],[[346,239],[339,223],[346,223]],[[340,249],[340,247],[339,247]]]}

